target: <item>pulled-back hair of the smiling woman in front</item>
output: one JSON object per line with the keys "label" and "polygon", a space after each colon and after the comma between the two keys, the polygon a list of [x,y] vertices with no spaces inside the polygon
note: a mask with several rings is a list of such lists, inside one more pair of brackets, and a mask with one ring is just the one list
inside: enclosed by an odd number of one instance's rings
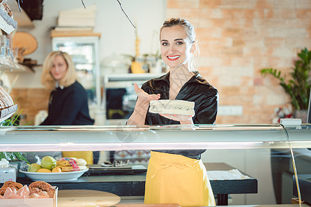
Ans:
{"label": "pulled-back hair of the smiling woman in front", "polygon": [[[182,18],[171,18],[167,21],[164,21],[162,28],[160,29],[160,35],[163,28],[171,28],[173,26],[182,26],[184,28],[187,37],[189,38],[190,43],[196,43],[196,55],[200,53],[198,48],[198,43],[196,42],[196,31],[194,29],[194,26],[187,21],[186,19]],[[196,61],[194,59],[194,55],[191,55],[191,59],[189,59],[189,71],[195,71],[196,70]]]}

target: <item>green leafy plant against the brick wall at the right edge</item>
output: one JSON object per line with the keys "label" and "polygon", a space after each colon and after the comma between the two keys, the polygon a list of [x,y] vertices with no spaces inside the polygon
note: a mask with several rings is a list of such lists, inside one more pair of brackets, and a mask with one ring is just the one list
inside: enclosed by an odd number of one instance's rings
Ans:
{"label": "green leafy plant against the brick wall at the right edge", "polygon": [[311,51],[304,48],[298,53],[298,59],[294,61],[290,78],[287,79],[286,75],[283,75],[280,70],[274,68],[264,68],[261,70],[261,75],[270,74],[276,79],[279,79],[280,85],[290,95],[292,106],[296,111],[308,110],[311,87],[310,61]]}

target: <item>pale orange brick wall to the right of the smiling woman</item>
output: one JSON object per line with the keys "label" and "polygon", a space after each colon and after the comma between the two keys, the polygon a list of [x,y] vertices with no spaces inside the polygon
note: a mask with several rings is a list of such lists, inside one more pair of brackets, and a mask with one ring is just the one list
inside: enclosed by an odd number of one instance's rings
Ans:
{"label": "pale orange brick wall to the right of the smiling woman", "polygon": [[243,106],[241,116],[216,124],[270,124],[274,108],[290,103],[262,68],[288,72],[301,48],[311,49],[310,0],[167,0],[167,18],[197,29],[199,71],[218,88],[220,106]]}

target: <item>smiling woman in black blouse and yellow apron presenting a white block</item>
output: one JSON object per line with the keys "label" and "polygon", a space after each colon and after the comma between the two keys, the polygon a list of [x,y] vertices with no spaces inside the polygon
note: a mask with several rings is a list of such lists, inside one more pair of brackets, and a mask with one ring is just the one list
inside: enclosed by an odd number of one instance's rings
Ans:
{"label": "smiling woman in black blouse and yellow apron presenting a white block", "polygon": [[[170,72],[151,79],[138,88],[135,109],[127,124],[214,124],[218,108],[218,92],[194,67],[196,52],[194,27],[185,19],[164,21],[160,30],[160,48]],[[163,100],[164,99],[164,100]],[[160,112],[148,109],[157,101],[173,100],[191,103],[194,112],[180,114],[174,107]],[[149,106],[149,104],[151,106]],[[159,103],[158,103],[159,104]],[[179,107],[180,108],[180,107]],[[214,195],[200,160],[204,149],[152,150],[147,170],[144,202],[180,206],[215,206]]]}

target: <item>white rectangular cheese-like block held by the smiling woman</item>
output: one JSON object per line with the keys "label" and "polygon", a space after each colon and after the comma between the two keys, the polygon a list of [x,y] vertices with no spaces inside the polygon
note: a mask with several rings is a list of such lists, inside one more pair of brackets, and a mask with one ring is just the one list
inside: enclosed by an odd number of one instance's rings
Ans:
{"label": "white rectangular cheese-like block held by the smiling woman", "polygon": [[149,112],[171,115],[194,115],[194,102],[183,100],[150,101]]}

